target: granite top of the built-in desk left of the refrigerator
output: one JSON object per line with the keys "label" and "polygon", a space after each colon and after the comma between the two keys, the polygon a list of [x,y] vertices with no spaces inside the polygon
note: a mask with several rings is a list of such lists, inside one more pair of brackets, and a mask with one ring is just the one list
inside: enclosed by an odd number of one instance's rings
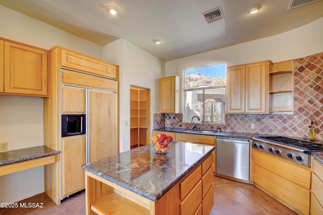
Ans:
{"label": "granite top of the built-in desk left of the refrigerator", "polygon": [[59,153],[60,151],[53,150],[44,145],[0,152],[0,166],[15,164]]}

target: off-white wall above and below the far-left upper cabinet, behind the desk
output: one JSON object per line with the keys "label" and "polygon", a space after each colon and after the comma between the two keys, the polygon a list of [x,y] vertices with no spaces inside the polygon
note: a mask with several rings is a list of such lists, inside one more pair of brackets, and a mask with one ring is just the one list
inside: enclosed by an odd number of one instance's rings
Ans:
{"label": "off-white wall above and below the far-left upper cabinet, behind the desk", "polygon": [[[102,46],[3,6],[0,37],[45,49],[60,45],[102,58]],[[0,95],[0,142],[8,142],[8,150],[44,144],[42,98]],[[0,191],[0,202],[16,202],[44,192],[43,167],[1,176]]]}

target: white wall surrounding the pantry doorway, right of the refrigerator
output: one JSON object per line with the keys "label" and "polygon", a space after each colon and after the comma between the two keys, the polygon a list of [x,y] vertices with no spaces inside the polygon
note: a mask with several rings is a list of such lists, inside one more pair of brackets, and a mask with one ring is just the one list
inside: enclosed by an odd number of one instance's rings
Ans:
{"label": "white wall surrounding the pantry doorway, right of the refrigerator", "polygon": [[[120,65],[119,111],[120,152],[122,152],[130,149],[130,85],[150,89],[150,125],[152,130],[153,113],[159,113],[158,80],[165,76],[165,62],[124,39],[103,46],[103,60]],[[128,126],[126,126],[126,121]]]}

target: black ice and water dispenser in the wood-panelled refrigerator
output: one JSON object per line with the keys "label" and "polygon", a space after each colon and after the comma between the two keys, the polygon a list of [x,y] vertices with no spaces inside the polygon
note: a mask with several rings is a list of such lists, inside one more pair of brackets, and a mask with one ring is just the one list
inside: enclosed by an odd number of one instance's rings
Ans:
{"label": "black ice and water dispenser in the wood-panelled refrigerator", "polygon": [[62,115],[62,137],[86,134],[85,114]]}

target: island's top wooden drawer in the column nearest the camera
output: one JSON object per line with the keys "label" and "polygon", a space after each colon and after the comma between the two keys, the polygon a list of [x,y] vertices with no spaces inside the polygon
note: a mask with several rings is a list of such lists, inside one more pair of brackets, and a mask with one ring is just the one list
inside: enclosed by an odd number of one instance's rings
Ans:
{"label": "island's top wooden drawer in the column nearest the camera", "polygon": [[[201,165],[199,165],[189,176],[180,182],[180,199],[183,200],[185,196],[192,190],[195,184],[201,179]],[[202,193],[201,193],[202,195]]]}

